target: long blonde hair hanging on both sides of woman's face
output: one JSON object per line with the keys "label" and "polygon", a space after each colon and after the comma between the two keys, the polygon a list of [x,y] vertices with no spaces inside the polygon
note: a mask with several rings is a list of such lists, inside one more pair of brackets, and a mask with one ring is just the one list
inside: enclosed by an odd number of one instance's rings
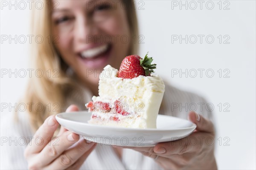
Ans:
{"label": "long blonde hair hanging on both sides of woman's face", "polygon": [[[125,0],[128,3],[126,8],[128,24],[131,35],[138,36],[137,16],[134,9],[133,0]],[[61,59],[54,48],[51,34],[51,10],[47,8],[50,0],[41,1],[44,8],[41,10],[32,10],[32,35],[44,38],[42,43],[32,43],[31,65],[38,73],[43,72],[42,77],[33,77],[29,79],[29,84],[26,89],[23,101],[25,103],[40,104],[43,109],[38,110],[36,107],[31,107],[29,110],[30,122],[33,130],[37,130],[44,120],[56,113],[63,112],[65,106],[65,96],[67,91],[78,88],[72,77],[66,74],[68,65]],[[130,41],[129,54],[137,54],[138,45]],[[128,54],[127,54],[128,55]],[[58,71],[58,77],[52,75]],[[49,76],[51,74],[51,76]],[[48,109],[49,105],[58,105],[58,111]]]}

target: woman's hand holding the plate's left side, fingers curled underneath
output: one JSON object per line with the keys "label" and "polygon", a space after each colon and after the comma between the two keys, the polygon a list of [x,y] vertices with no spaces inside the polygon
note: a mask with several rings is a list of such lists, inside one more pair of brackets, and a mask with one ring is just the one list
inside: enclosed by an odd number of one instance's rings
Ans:
{"label": "woman's hand holding the plate's left side, fingers curled underneath", "polygon": [[[67,111],[78,111],[78,108],[71,105]],[[64,127],[61,127],[58,136],[52,139],[58,125],[55,116],[49,116],[36,131],[24,152],[29,169],[79,169],[96,146],[94,142],[79,140],[78,134]],[[75,145],[70,147],[73,144]]]}

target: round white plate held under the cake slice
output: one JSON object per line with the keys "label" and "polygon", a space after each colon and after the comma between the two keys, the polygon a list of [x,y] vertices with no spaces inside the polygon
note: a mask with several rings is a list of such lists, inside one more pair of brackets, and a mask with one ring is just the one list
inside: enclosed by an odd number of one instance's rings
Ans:
{"label": "round white plate held under the cake slice", "polygon": [[157,129],[135,129],[91,125],[91,113],[86,111],[59,113],[57,121],[67,130],[84,136],[85,139],[105,145],[146,147],[159,142],[182,139],[192,133],[196,125],[185,119],[158,115]]}

